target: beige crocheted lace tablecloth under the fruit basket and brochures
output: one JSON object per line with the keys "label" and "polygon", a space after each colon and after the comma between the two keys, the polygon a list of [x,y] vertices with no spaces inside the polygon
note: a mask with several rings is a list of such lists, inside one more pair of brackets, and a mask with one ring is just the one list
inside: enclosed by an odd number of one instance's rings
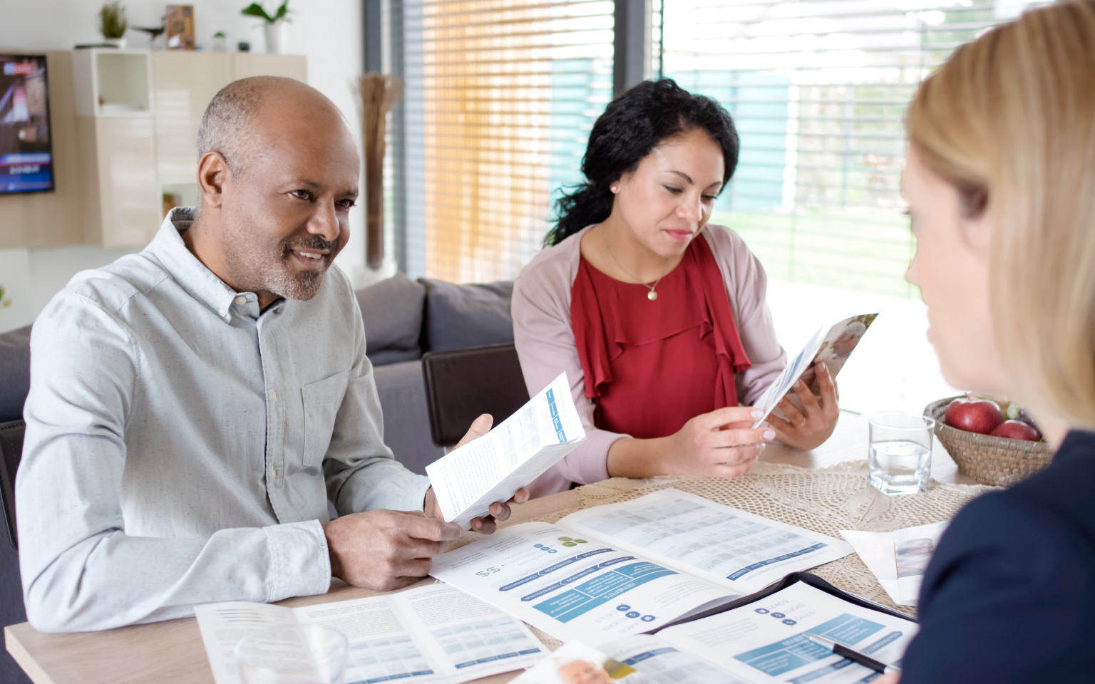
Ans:
{"label": "beige crocheted lace tablecloth under the fruit basket and brochures", "polygon": [[[948,520],[973,497],[995,487],[950,485],[932,480],[924,494],[889,497],[867,484],[867,462],[849,461],[823,469],[758,463],[734,479],[613,478],[577,489],[577,508],[555,511],[540,520],[555,522],[579,509],[616,503],[677,487],[718,503],[771,520],[841,538],[841,530],[889,532]],[[913,615],[914,608],[896,605],[857,554],[810,570],[834,587]]]}

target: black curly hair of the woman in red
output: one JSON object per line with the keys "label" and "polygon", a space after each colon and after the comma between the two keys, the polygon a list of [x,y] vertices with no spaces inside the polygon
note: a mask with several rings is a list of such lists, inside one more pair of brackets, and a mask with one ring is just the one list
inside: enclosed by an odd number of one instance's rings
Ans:
{"label": "black curly hair of the woman in red", "polygon": [[558,220],[544,237],[553,246],[612,213],[609,187],[658,144],[700,129],[723,148],[723,187],[738,165],[738,131],[729,113],[711,97],[693,95],[671,79],[643,81],[620,95],[597,118],[581,160],[586,182],[572,187],[555,202]]}

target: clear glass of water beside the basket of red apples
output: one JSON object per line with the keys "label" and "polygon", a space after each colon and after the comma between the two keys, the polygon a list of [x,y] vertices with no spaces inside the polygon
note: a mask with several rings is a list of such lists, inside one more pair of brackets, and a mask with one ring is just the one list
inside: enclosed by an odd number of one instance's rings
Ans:
{"label": "clear glass of water beside the basket of red apples", "polygon": [[927,491],[935,420],[912,414],[868,419],[867,479],[883,494]]}

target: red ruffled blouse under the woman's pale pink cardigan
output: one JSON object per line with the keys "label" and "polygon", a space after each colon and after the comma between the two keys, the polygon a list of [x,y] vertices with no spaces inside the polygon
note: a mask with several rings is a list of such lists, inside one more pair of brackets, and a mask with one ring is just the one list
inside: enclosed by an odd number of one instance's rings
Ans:
{"label": "red ruffled blouse under the woman's pale pink cardigan", "polygon": [[570,324],[595,424],[638,439],[666,437],[691,418],[737,406],[736,375],[749,368],[723,275],[707,241],[649,288],[621,282],[581,258]]}

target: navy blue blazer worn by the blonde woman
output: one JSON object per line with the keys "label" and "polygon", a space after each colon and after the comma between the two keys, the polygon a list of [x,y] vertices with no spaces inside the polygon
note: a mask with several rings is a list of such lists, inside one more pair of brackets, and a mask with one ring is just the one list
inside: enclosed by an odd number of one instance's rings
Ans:
{"label": "navy blue blazer worn by the blonde woman", "polygon": [[1095,682],[1095,433],[969,502],[924,573],[901,684]]}

